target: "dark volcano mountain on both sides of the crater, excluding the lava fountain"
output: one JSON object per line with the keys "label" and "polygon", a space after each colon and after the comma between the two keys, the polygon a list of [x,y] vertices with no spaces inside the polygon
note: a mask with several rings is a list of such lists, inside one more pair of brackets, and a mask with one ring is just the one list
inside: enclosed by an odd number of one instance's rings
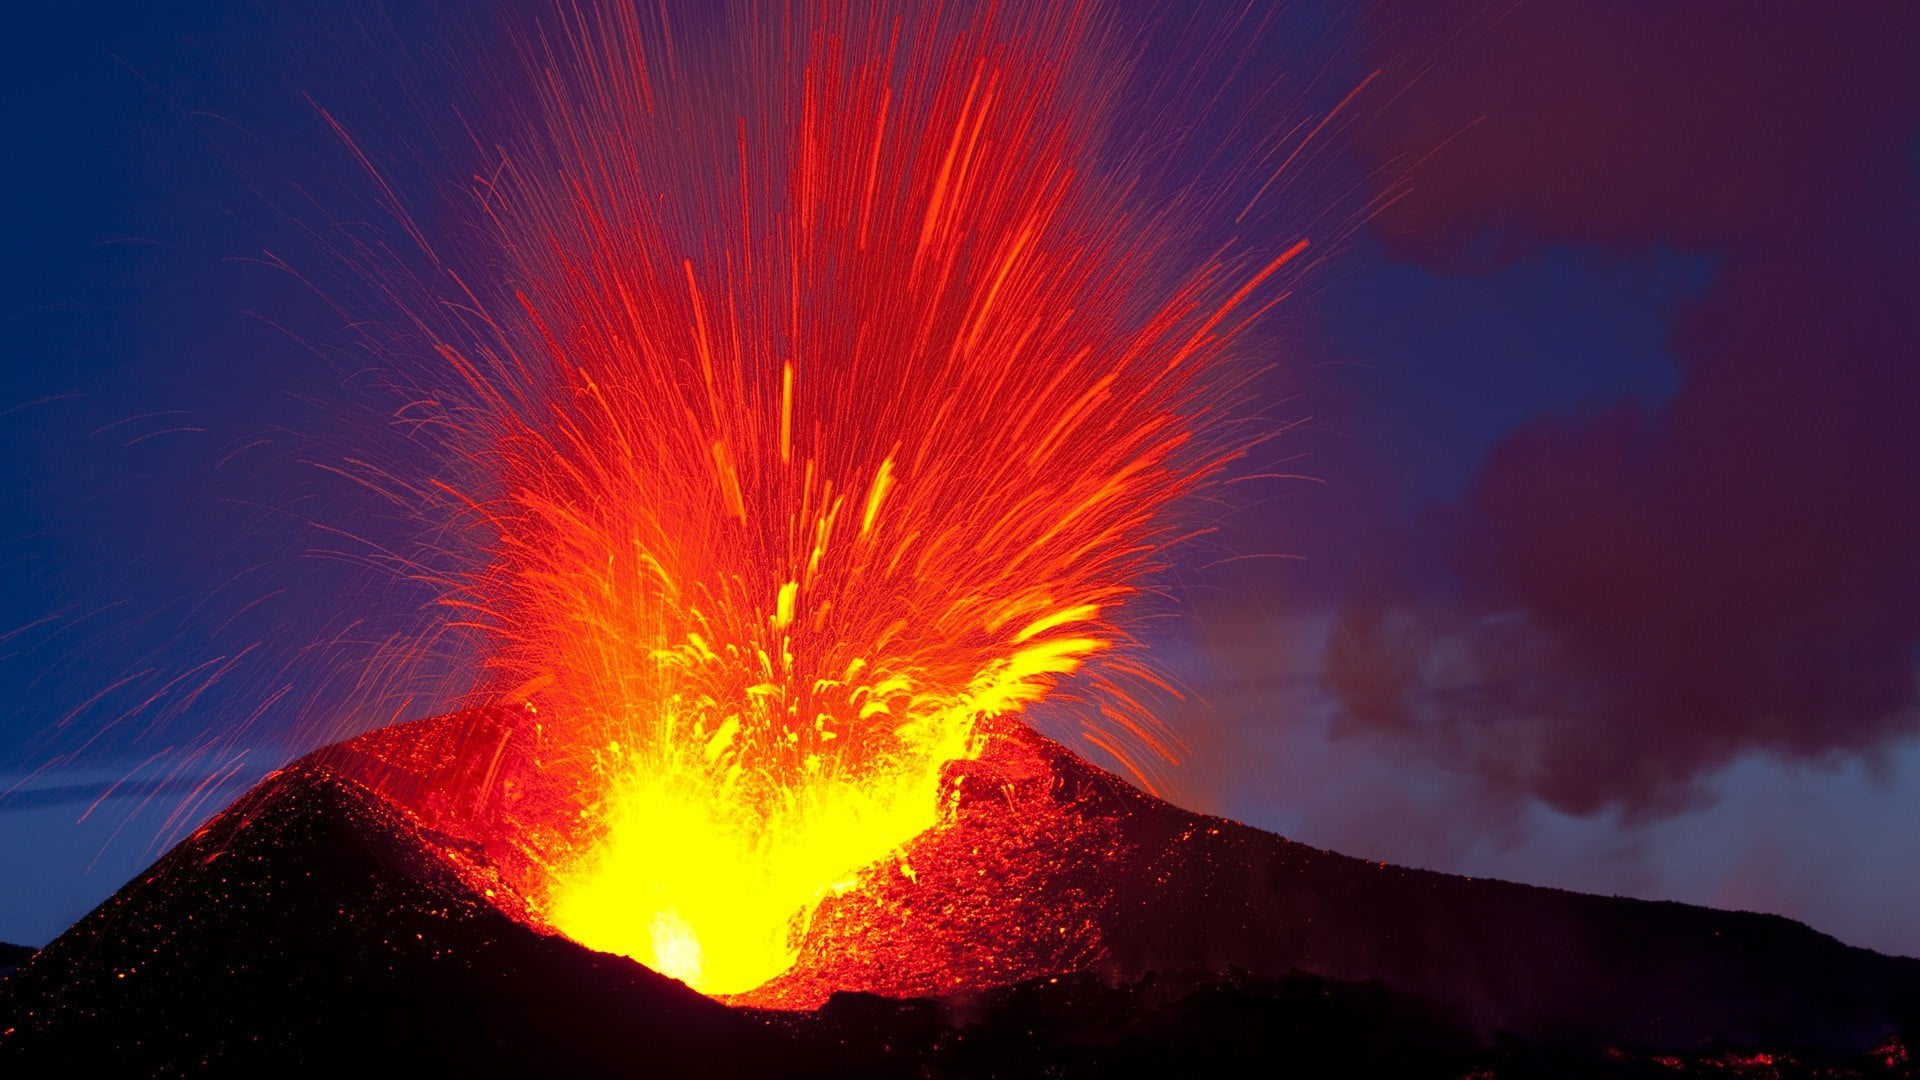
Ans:
{"label": "dark volcano mountain on both sides of the crater, excluding the lava fountain", "polygon": [[113,1072],[1912,1076],[1920,961],[1788,919],[1367,863],[1010,719],[950,813],[712,999],[540,926],[528,717],[275,773],[0,982],[0,1061]]}

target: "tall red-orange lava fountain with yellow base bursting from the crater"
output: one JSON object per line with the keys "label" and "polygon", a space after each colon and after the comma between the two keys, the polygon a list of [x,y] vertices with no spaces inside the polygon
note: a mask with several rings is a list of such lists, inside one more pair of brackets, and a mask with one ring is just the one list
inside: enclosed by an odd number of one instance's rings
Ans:
{"label": "tall red-orange lava fountain with yellow base bursting from the crater", "polygon": [[939,822],[981,717],[1073,676],[1087,738],[1169,753],[1125,619],[1236,452],[1210,375],[1304,248],[1169,279],[1102,163],[1087,12],[801,23],[674,48],[609,4],[528,48],[499,286],[438,350],[480,432],[447,603],[540,723],[515,884],[708,994]]}

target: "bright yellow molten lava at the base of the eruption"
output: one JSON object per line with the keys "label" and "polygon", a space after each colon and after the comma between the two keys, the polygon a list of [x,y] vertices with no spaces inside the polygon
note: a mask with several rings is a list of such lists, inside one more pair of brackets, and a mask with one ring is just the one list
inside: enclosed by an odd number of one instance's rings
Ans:
{"label": "bright yellow molten lava at the base of the eruption", "polygon": [[[781,592],[781,615],[789,596]],[[1091,615],[1060,611],[1018,638],[1029,642]],[[749,696],[758,715],[733,713],[718,724],[708,724],[708,709],[670,703],[655,721],[660,730],[639,740],[647,749],[609,748],[605,838],[557,878],[553,926],[703,994],[768,982],[793,967],[806,920],[828,892],[935,824],[941,769],[975,753],[975,719],[1037,700],[1052,676],[1102,644],[1027,644],[981,671],[958,700],[916,696],[904,676],[860,684],[849,700],[868,719],[900,709],[899,726],[881,736],[887,746],[868,748],[864,769],[806,755],[803,774],[780,784],[749,774],[737,746],[743,728],[778,728],[770,705],[783,696],[780,688]],[[822,715],[814,726],[818,736],[835,723]]]}

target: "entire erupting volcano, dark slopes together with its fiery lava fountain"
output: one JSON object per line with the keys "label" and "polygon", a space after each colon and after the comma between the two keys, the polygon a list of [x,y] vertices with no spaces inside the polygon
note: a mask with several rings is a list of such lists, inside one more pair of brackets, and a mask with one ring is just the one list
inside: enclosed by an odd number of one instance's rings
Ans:
{"label": "entire erupting volcano, dark slopes together with its fiery lava fountain", "polygon": [[1248,190],[1169,186],[1192,133],[1127,129],[1139,42],[1091,2],[516,40],[465,219],[328,117],[432,267],[353,250],[445,452],[342,471],[422,523],[396,561],[480,688],[267,776],[6,974],[0,1057],[1912,1074],[1916,961],[1158,798],[1142,625],[1275,434],[1236,392],[1309,240],[1267,202],[1352,96]]}

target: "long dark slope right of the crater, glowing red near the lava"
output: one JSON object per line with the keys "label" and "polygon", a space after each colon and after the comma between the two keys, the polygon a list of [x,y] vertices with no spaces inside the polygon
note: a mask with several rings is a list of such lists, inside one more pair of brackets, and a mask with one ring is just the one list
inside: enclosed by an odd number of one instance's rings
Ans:
{"label": "long dark slope right of the crater, glowing red near the lava", "polygon": [[[1363,863],[1181,811],[1025,728],[964,767],[962,794],[954,826],[908,849],[914,880],[889,867],[828,903],[837,932],[803,967],[893,994],[954,970],[1298,969],[1448,1001],[1486,1034],[1640,1047],[1862,1047],[1920,1019],[1920,961],[1772,915]],[[900,922],[922,926],[914,970],[887,942]]]}

